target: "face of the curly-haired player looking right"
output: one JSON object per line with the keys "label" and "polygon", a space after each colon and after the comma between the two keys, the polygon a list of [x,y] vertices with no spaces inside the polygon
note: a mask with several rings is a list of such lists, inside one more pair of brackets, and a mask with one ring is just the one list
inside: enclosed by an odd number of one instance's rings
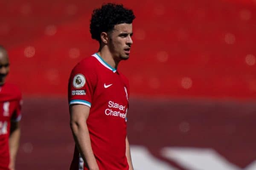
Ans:
{"label": "face of the curly-haired player looking right", "polygon": [[122,23],[114,26],[110,34],[109,49],[115,60],[128,59],[133,41],[132,24]]}

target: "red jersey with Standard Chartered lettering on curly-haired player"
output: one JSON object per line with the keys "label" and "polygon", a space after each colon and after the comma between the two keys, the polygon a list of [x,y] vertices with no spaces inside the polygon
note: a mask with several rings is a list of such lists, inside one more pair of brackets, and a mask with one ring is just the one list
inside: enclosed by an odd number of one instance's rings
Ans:
{"label": "red jersey with Standard Chartered lettering on curly-haired player", "polygon": [[[90,107],[87,127],[100,170],[128,170],[125,156],[128,79],[98,54],[73,68],[68,87],[69,105]],[[88,170],[75,147],[71,170]]]}

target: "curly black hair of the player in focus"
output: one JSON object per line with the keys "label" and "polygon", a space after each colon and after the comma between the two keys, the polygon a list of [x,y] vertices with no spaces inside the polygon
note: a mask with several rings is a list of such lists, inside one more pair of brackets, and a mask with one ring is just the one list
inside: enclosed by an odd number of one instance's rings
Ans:
{"label": "curly black hair of the player in focus", "polygon": [[93,10],[90,20],[90,33],[92,39],[101,42],[102,32],[112,31],[116,24],[131,24],[135,15],[131,9],[124,8],[122,4],[107,3],[101,8]]}

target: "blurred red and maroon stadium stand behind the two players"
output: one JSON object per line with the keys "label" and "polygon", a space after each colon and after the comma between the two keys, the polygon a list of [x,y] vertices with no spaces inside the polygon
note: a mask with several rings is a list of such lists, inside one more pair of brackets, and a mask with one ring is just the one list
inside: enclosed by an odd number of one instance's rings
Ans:
{"label": "blurred red and maroon stadium stand behind the two players", "polygon": [[[98,50],[90,15],[104,2],[0,1],[8,81],[24,98],[17,170],[68,169],[67,80]],[[130,59],[118,68],[131,85],[135,170],[254,170],[256,1],[114,2],[137,17]]]}

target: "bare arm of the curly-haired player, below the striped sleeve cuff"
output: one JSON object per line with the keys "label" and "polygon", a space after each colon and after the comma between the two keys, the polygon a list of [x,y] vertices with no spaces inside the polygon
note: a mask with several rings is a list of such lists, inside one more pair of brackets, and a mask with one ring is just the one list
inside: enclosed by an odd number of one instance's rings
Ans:
{"label": "bare arm of the curly-haired player, below the striped sleeve cuff", "polygon": [[76,147],[78,147],[79,153],[84,161],[87,162],[89,170],[99,170],[91,147],[89,131],[86,124],[89,112],[90,108],[86,105],[71,105],[70,127]]}

